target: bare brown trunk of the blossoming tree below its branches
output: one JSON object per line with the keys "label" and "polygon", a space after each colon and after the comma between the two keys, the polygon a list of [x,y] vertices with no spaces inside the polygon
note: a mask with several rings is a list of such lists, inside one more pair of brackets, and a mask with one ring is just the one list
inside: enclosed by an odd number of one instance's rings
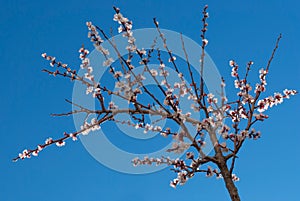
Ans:
{"label": "bare brown trunk of the blossoming tree below its branches", "polygon": [[240,201],[240,196],[238,194],[238,189],[234,185],[234,182],[232,181],[232,177],[230,175],[230,172],[228,170],[226,161],[224,157],[221,157],[220,163],[218,164],[218,167],[221,170],[221,174],[223,176],[227,191],[230,195],[230,198],[232,201]]}

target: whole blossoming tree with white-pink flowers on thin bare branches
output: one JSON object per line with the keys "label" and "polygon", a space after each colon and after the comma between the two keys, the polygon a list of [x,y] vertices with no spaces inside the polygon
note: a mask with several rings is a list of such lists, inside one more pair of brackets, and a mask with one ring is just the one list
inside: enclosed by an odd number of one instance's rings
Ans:
{"label": "whole blossoming tree with white-pink flowers on thin bare branches", "polygon": [[[145,133],[158,132],[164,137],[172,137],[174,143],[167,152],[177,154],[186,152],[185,158],[177,159],[165,156],[161,158],[134,158],[132,160],[133,165],[167,164],[173,166],[171,170],[177,173],[177,178],[172,180],[170,185],[174,188],[177,185],[185,184],[196,173],[204,173],[207,177],[215,175],[217,178],[224,180],[231,199],[234,201],[240,200],[238,190],[234,184],[239,178],[233,173],[239,150],[247,140],[260,138],[260,132],[256,131],[253,125],[268,118],[268,115],[263,112],[281,104],[284,99],[288,99],[297,92],[285,89],[283,93],[275,93],[273,96],[261,98],[261,95],[266,91],[266,76],[278,48],[281,35],[276,41],[266,67],[259,70],[259,80],[255,86],[250,83],[251,77],[249,75],[254,63],[252,61],[248,62],[245,73],[241,74],[239,65],[231,60],[229,61],[232,68],[231,75],[234,78],[235,88],[238,90],[236,99],[233,101],[227,100],[224,79],[219,83],[219,91],[208,92],[203,77],[206,70],[205,47],[208,45],[206,39],[208,27],[207,8],[207,6],[204,7],[202,18],[200,77],[197,77],[191,69],[183,37],[181,37],[179,45],[185,53],[185,70],[178,65],[176,57],[169,49],[167,38],[155,18],[153,22],[159,38],[154,39],[150,49],[143,49],[136,45],[132,22],[125,18],[120,9],[116,7],[114,7],[114,21],[119,23],[118,32],[122,33],[127,40],[127,58],[122,56],[118,44],[109,38],[103,29],[91,22],[87,22],[86,25],[89,30],[88,37],[97,51],[105,58],[103,66],[109,69],[118,89],[111,89],[108,84],[105,85],[95,80],[93,71],[96,69],[91,66],[88,57],[89,51],[84,46],[79,49],[82,61],[80,67],[86,71],[84,75],[80,75],[75,69],[58,61],[55,57],[46,53],[42,54],[42,57],[50,62],[50,66],[56,68],[56,70],[44,69],[44,72],[82,83],[85,86],[85,93],[97,100],[98,108],[94,110],[66,100],[77,109],[68,113],[54,114],[53,116],[85,114],[86,118],[81,129],[72,133],[65,132],[62,138],[56,140],[48,138],[44,144],[38,145],[35,149],[24,150],[13,160],[30,158],[31,155],[37,156],[40,151],[52,144],[59,147],[64,146],[67,139],[75,141],[79,135],[87,135],[91,131],[99,130],[102,124],[111,121],[135,127]],[[108,41],[118,55],[117,61],[114,61],[111,52],[103,47],[104,40]],[[156,48],[158,40],[162,41],[167,52],[166,55]],[[172,83],[170,73],[166,69],[166,60],[172,65],[179,82]],[[151,66],[155,62],[159,65],[158,69]],[[143,71],[137,73],[135,71],[136,65],[142,65]],[[146,86],[145,80],[147,79],[152,79],[155,83],[154,89]],[[189,80],[191,84],[188,84],[186,80]],[[111,97],[117,97],[128,102],[128,107],[120,107],[113,101],[106,101],[111,100]],[[189,110],[183,109],[183,105],[181,105],[183,99],[190,101]],[[192,112],[198,113],[201,117],[195,118]],[[134,123],[120,120],[118,118],[120,114],[127,114]],[[97,118],[90,118],[92,115],[96,115]],[[149,116],[156,116],[158,120],[150,122]],[[158,122],[165,119],[173,122],[174,125],[176,124],[180,128],[179,131],[176,131],[173,127],[162,128],[159,126]],[[190,127],[192,129],[189,129]],[[212,145],[212,152],[207,153],[205,151],[207,143]]]}

